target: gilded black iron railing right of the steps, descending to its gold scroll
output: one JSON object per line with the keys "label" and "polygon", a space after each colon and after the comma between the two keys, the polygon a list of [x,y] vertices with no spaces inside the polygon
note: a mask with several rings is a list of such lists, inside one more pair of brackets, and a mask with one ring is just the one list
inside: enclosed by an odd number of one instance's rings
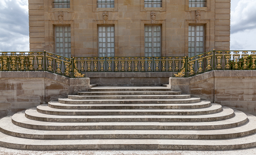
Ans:
{"label": "gilded black iron railing right of the steps, descending to its gold scroll", "polygon": [[186,57],[174,77],[190,77],[210,70],[256,70],[256,51],[210,51]]}

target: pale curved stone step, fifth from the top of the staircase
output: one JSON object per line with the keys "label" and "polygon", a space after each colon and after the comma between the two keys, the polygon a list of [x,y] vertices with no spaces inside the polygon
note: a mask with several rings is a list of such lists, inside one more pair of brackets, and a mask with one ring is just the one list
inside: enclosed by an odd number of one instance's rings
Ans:
{"label": "pale curved stone step, fifth from the top of the staircase", "polygon": [[57,101],[48,102],[50,108],[57,109],[194,109],[206,108],[210,101],[202,100],[189,104],[62,104]]}

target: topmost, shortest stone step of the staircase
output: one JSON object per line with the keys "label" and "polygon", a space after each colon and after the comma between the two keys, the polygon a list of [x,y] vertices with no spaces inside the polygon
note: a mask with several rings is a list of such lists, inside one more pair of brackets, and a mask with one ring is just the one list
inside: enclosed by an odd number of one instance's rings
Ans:
{"label": "topmost, shortest stone step of the staircase", "polygon": [[133,92],[133,91],[144,91],[144,92],[156,92],[156,91],[170,91],[170,88],[163,86],[97,86],[88,89],[89,92]]}

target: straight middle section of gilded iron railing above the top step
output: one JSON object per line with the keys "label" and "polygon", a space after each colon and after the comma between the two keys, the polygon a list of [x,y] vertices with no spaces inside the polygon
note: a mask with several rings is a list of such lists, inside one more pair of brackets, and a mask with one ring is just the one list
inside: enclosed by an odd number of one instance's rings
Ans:
{"label": "straight middle section of gilded iron railing above the top step", "polygon": [[180,71],[185,57],[76,57],[80,72]]}

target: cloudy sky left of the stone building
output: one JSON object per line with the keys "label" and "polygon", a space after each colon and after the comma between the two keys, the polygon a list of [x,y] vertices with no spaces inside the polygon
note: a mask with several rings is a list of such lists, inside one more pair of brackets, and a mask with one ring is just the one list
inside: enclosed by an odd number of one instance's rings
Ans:
{"label": "cloudy sky left of the stone building", "polygon": [[29,51],[27,0],[0,0],[0,51]]}

